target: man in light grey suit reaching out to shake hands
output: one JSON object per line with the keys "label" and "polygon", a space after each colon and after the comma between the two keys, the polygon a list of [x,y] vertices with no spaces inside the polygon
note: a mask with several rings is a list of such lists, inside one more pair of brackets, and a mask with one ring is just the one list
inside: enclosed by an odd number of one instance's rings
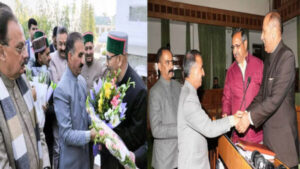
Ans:
{"label": "man in light grey suit reaching out to shake hands", "polygon": [[208,169],[206,137],[226,133],[239,121],[240,114],[212,121],[201,107],[197,89],[204,76],[203,61],[197,50],[189,51],[184,58],[185,83],[178,105],[178,169]]}

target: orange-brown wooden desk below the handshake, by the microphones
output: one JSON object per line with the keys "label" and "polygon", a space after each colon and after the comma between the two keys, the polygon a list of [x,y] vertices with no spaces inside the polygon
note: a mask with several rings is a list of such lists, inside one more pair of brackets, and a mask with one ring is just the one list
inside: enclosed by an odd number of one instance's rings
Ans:
{"label": "orange-brown wooden desk below the handshake, by the microphones", "polygon": [[[222,158],[228,169],[252,169],[251,165],[245,160],[245,158],[241,156],[235,147],[233,147],[228,137],[225,137],[224,135],[219,138],[217,156]],[[275,158],[274,166],[277,167],[280,164],[284,165],[280,160]],[[288,169],[288,167],[286,168]]]}

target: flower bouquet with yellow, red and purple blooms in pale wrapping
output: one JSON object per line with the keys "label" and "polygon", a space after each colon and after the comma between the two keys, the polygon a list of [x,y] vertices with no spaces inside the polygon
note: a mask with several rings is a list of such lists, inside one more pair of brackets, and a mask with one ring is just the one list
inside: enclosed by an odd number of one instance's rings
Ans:
{"label": "flower bouquet with yellow, red and purple blooms in pale wrapping", "polygon": [[125,119],[126,103],[122,101],[127,89],[131,85],[135,86],[129,79],[126,84],[117,87],[116,80],[119,73],[120,70],[108,73],[103,80],[99,79],[98,84],[94,84],[86,100],[86,109],[92,120],[90,128],[97,131],[94,148],[97,143],[104,144],[122,165],[135,169],[137,167],[132,153],[112,130]]}

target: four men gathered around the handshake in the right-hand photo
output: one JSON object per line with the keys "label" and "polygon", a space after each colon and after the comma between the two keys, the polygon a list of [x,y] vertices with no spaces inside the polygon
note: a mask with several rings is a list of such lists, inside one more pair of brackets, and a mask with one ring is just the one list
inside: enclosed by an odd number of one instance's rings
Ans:
{"label": "four men gathered around the handshake in the right-hand photo", "polygon": [[248,52],[242,29],[233,33],[235,62],[227,70],[223,118],[218,120],[208,117],[197,96],[205,75],[200,52],[191,50],[185,55],[185,82],[181,86],[172,80],[170,49],[158,50],[160,77],[150,89],[148,104],[154,137],[153,168],[210,168],[206,139],[227,133],[234,126],[233,142],[264,144],[288,167],[298,168],[295,56],[281,39],[281,24],[277,12],[264,18],[261,40],[268,54],[264,63]]}

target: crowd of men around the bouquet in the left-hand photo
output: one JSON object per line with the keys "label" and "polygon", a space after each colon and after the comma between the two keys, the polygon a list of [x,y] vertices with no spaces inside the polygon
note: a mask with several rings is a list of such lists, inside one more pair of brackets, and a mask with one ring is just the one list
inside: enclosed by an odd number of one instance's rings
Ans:
{"label": "crowd of men around the bouquet in the left-hand photo", "polygon": [[[93,83],[104,77],[106,69],[121,70],[117,86],[128,79],[135,82],[135,88],[130,87],[124,97],[125,120],[114,130],[135,155],[138,167],[145,168],[147,92],[127,61],[127,34],[109,32],[104,65],[94,58],[92,32],[68,33],[66,28],[58,26],[53,30],[53,44],[49,45],[45,33],[31,18],[30,39],[25,41],[17,18],[3,3],[0,3],[0,22],[0,168],[93,168],[90,144],[96,131],[89,129],[91,119],[85,102]],[[46,83],[56,86],[43,106],[44,126],[39,125],[33,106],[36,91],[30,87],[25,71],[32,76],[43,72]],[[104,145],[100,156],[101,168],[123,168]]]}

